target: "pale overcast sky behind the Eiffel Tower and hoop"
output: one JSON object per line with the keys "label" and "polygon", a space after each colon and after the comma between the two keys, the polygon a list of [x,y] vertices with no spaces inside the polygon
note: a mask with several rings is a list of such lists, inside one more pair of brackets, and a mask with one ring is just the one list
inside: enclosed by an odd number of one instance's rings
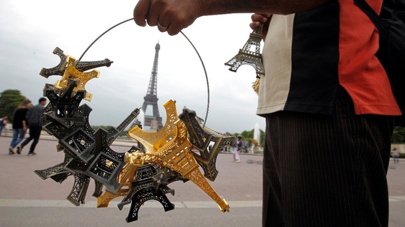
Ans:
{"label": "pale overcast sky behind the Eiffel Tower and hoop", "polygon": [[[52,54],[55,47],[79,59],[104,31],[133,17],[136,4],[106,0],[0,2],[0,92],[16,89],[34,104],[43,96],[45,84],[61,78],[39,75],[42,68],[59,63],[59,56]],[[114,61],[109,68],[97,68],[99,78],[85,86],[93,94],[91,102],[81,102],[93,109],[90,124],[117,127],[133,109],[142,107],[159,42],[157,97],[163,124],[163,104],[174,99],[178,114],[186,107],[205,119],[208,109],[205,126],[217,132],[240,133],[253,130],[256,124],[264,130],[264,118],[256,115],[258,96],[251,88],[256,71],[242,65],[231,72],[224,65],[249,38],[250,16],[200,17],[183,30],[200,54],[208,79],[198,54],[182,34],[169,36],[156,26],[140,27],[133,21],[105,33],[82,58]],[[152,115],[152,107],[146,112]]]}

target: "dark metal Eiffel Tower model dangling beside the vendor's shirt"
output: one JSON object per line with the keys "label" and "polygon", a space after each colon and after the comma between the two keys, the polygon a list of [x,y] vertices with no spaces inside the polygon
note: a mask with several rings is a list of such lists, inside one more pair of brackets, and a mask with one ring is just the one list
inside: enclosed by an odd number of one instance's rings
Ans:
{"label": "dark metal Eiffel Tower model dangling beside the vendor's shirt", "polygon": [[[256,81],[253,82],[253,90],[258,93],[260,85],[260,75],[265,75],[265,70],[262,63],[262,54],[260,54],[260,42],[262,41],[263,24],[253,29],[250,33],[249,39],[244,44],[242,49],[239,49],[233,58],[231,58],[225,65],[230,66],[229,70],[236,72],[240,65],[251,65],[256,70]],[[256,47],[254,52],[251,47]]]}

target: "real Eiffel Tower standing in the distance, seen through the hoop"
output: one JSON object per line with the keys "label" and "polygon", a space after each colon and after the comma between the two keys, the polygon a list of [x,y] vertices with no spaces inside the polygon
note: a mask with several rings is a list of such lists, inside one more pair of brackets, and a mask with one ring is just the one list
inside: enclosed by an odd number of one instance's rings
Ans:
{"label": "real Eiffel Tower standing in the distance, seen through the hoop", "polygon": [[[159,59],[159,50],[161,49],[161,45],[159,42],[155,46],[155,58],[154,58],[154,65],[152,68],[152,75],[149,80],[149,86],[147,88],[147,94],[143,97],[143,104],[142,104],[142,111],[145,114],[145,122],[142,123],[142,126],[151,126],[152,120],[156,119],[158,123],[158,129],[161,130],[163,127],[162,118],[159,115],[159,107],[158,107],[158,97],[157,97],[157,85],[158,85],[158,59]],[[146,115],[146,109],[148,106],[152,106],[153,108],[153,116]]]}

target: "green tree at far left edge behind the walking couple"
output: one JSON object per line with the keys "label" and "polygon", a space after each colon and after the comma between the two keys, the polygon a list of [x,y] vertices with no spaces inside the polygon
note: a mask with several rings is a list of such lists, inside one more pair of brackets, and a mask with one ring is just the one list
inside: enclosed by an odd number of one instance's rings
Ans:
{"label": "green tree at far left edge behind the walking couple", "polygon": [[5,90],[0,94],[0,117],[8,116],[8,120],[13,123],[14,110],[27,97],[18,90]]}

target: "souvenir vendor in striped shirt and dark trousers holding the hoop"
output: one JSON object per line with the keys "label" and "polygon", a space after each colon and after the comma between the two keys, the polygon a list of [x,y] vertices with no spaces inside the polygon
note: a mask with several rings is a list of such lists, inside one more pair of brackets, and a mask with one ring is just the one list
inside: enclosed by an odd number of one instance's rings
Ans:
{"label": "souvenir vendor in striped shirt and dark trousers holding the hoop", "polygon": [[[368,1],[379,12],[383,0]],[[263,24],[263,226],[388,226],[393,116],[378,31],[352,0],[140,0],[140,26],[175,35],[202,16]],[[207,34],[206,34],[207,35]]]}

